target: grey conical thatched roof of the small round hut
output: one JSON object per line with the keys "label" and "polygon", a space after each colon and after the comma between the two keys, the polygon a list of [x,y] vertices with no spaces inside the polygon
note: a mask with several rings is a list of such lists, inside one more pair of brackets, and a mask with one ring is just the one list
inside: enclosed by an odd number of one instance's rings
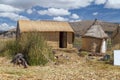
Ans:
{"label": "grey conical thatched roof of the small round hut", "polygon": [[92,25],[84,34],[84,37],[107,38],[108,35],[104,32],[100,25]]}

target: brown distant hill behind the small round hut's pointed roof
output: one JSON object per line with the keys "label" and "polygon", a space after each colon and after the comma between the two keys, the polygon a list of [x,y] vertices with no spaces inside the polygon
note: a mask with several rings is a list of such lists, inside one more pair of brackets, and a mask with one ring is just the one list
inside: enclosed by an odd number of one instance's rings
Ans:
{"label": "brown distant hill behind the small round hut's pointed roof", "polygon": [[[93,22],[94,22],[94,20],[86,20],[86,21],[80,21],[80,22],[70,22],[69,24],[75,31],[76,36],[81,36],[93,24]],[[106,33],[108,33],[109,36],[111,36],[112,32],[118,26],[117,23],[102,22],[102,21],[97,21],[96,24],[101,25],[103,30]]]}

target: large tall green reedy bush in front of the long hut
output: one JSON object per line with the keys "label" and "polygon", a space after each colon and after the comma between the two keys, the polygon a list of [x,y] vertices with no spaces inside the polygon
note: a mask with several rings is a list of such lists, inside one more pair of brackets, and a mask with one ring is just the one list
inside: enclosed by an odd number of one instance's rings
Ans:
{"label": "large tall green reedy bush in front of the long hut", "polygon": [[20,42],[26,48],[23,50],[23,53],[26,55],[26,59],[30,65],[44,65],[49,60],[53,60],[52,50],[40,34],[24,34]]}

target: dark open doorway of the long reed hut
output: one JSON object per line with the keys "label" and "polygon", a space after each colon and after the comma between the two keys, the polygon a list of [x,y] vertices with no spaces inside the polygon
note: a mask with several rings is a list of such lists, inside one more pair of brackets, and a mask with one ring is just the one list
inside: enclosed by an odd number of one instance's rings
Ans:
{"label": "dark open doorway of the long reed hut", "polygon": [[59,47],[60,48],[67,48],[67,32],[60,32]]}

